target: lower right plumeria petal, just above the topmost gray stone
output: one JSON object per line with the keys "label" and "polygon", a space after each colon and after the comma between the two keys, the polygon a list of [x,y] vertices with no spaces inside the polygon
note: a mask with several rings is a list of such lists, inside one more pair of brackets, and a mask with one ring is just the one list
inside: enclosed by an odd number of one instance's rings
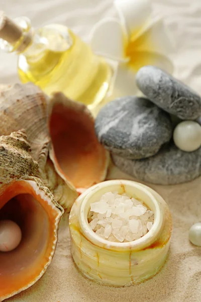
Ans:
{"label": "lower right plumeria petal, just above the topmost gray stone", "polygon": [[159,67],[170,74],[172,74],[174,70],[173,63],[167,56],[150,51],[136,51],[129,61],[128,65],[135,72],[137,72],[141,67],[145,65],[153,65]]}

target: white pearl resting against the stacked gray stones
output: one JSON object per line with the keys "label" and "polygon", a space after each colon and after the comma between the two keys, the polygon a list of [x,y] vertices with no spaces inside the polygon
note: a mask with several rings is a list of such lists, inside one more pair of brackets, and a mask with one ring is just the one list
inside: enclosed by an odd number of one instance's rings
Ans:
{"label": "white pearl resting against the stacked gray stones", "polygon": [[183,121],[175,127],[173,139],[179,149],[192,152],[201,146],[201,126],[194,121]]}

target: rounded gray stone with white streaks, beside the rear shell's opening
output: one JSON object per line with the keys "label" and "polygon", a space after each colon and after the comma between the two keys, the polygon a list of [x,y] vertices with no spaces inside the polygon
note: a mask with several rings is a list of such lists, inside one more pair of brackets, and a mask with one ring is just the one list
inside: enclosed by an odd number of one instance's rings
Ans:
{"label": "rounded gray stone with white streaks, beside the rear shell's opening", "polygon": [[168,113],[149,100],[122,97],[99,111],[95,132],[114,154],[142,159],[155,155],[170,140],[172,122]]}

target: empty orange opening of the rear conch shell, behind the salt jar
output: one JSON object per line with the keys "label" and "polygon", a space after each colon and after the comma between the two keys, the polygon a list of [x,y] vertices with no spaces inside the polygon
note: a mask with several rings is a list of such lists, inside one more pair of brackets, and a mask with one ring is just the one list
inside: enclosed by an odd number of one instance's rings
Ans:
{"label": "empty orange opening of the rear conch shell, behind the salt jar", "polygon": [[50,134],[56,162],[75,187],[88,188],[104,179],[107,154],[97,141],[93,119],[87,111],[55,104]]}

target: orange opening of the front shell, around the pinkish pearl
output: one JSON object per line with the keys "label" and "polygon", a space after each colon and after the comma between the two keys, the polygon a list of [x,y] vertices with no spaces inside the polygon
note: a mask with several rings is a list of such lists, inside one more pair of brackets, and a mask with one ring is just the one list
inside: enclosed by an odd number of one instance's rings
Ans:
{"label": "orange opening of the front shell, around the pinkish pearl", "polygon": [[26,289],[45,271],[56,244],[51,220],[57,214],[47,210],[45,200],[25,181],[7,186],[0,196],[0,220],[15,221],[22,231],[15,250],[0,252],[0,300]]}

